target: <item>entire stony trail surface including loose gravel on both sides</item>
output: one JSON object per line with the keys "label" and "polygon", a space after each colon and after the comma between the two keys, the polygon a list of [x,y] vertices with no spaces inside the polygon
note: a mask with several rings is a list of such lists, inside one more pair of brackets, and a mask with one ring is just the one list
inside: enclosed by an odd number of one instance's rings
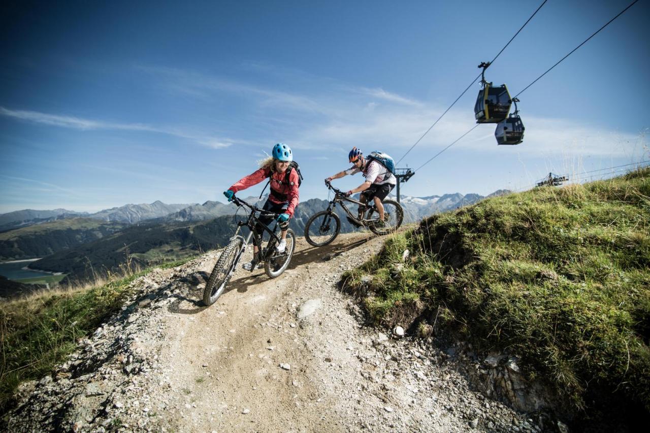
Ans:
{"label": "entire stony trail surface including loose gravel on both sides", "polygon": [[441,348],[364,326],[363,313],[337,282],[382,242],[355,233],[312,248],[298,239],[282,276],[271,280],[263,270],[238,270],[209,308],[200,301],[204,276],[220,252],[155,270],[134,283],[137,293],[122,313],[80,341],[70,360],[23,384],[8,426],[75,432],[565,430],[547,415],[517,412],[472,390],[468,369],[495,375],[497,363],[508,360],[477,362],[462,345]]}

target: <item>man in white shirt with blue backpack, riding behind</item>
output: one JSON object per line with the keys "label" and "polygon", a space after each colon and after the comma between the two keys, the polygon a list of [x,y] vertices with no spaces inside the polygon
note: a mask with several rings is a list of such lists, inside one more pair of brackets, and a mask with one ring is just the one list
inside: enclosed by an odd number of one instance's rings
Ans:
{"label": "man in white shirt with blue backpack, riding behind", "polygon": [[[379,213],[379,221],[375,223],[375,226],[383,226],[383,199],[393,190],[397,179],[390,170],[376,159],[372,159],[371,161],[365,159],[361,150],[356,147],[350,150],[348,159],[350,163],[354,164],[352,167],[328,177],[325,181],[330,182],[332,179],[339,179],[348,174],[363,173],[363,177],[366,178],[365,182],[355,189],[349,190],[346,194],[350,196],[356,192],[361,192],[361,196],[359,197],[359,202],[361,203],[367,203],[371,198],[374,199],[374,205]],[[359,206],[359,220],[363,218],[363,209],[364,206]]]}

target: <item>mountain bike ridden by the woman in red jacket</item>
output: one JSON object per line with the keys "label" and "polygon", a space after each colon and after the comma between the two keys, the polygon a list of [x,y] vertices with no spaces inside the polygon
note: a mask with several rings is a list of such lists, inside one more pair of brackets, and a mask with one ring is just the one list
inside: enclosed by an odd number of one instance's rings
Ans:
{"label": "mountain bike ridden by the woman in red jacket", "polygon": [[[230,241],[226,245],[226,248],[224,248],[222,251],[221,256],[219,256],[219,259],[216,261],[216,265],[214,265],[214,269],[210,274],[208,282],[205,284],[205,289],[203,289],[203,302],[206,306],[211,306],[214,304],[217,298],[221,296],[222,293],[224,293],[226,284],[235,273],[237,264],[246,251],[246,248],[248,247],[248,244],[251,242],[251,240],[253,241],[253,244],[257,246],[259,252],[255,257],[253,257],[253,267],[250,271],[253,272],[254,269],[257,269],[257,265],[259,263],[264,263],[264,270],[266,272],[266,275],[268,275],[270,278],[276,278],[280,276],[282,272],[287,269],[289,262],[291,262],[291,257],[293,256],[293,250],[296,248],[296,235],[293,230],[288,229],[286,238],[287,247],[285,248],[284,252],[279,253],[276,251],[276,245],[280,241],[279,234],[276,234],[278,231],[277,221],[273,229],[268,228],[266,224],[261,224],[264,230],[267,231],[271,236],[268,240],[268,244],[266,244],[266,247],[262,248],[262,242],[259,241],[258,244],[257,237],[253,236],[255,224],[257,224],[259,217],[262,215],[278,217],[279,214],[268,212],[264,209],[259,209],[259,207],[255,207],[249,203],[246,203],[244,200],[241,200],[235,196],[233,196],[232,201],[239,207],[248,207],[248,209],[250,209],[250,213],[246,211],[248,213],[248,218],[245,222],[237,222],[237,230],[235,230],[235,235],[230,238]],[[246,239],[240,235],[240,230],[244,226],[248,227],[250,230],[250,233],[248,233]]]}

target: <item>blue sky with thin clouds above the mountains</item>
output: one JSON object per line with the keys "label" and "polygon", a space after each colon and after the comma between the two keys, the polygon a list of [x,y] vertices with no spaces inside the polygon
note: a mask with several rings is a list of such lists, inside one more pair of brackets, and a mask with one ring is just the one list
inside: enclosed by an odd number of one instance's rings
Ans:
{"label": "blue sky with thin clouds above the mountains", "polygon": [[[541,0],[45,3],[0,18],[0,212],[224,201],[276,142],[300,163],[301,199],[325,198],[352,146],[400,159]],[[486,78],[516,94],[629,3],[549,0]],[[480,125],[402,193],[485,195],[649,159],[649,3],[519,96],[522,144]],[[473,127],[479,88],[398,166]]]}

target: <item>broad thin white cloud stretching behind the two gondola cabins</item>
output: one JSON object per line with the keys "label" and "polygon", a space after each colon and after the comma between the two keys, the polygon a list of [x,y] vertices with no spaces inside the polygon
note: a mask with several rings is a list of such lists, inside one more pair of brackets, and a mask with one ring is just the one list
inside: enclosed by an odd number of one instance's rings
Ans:
{"label": "broad thin white cloud stretching behind the two gondola cabins", "polygon": [[[255,65],[253,65],[255,66]],[[273,106],[274,117],[264,112],[257,124],[265,129],[282,131],[286,140],[296,148],[313,150],[323,145],[348,148],[409,148],[422,136],[445,107],[408,98],[383,88],[350,86],[327,77],[296,70],[283,70],[265,65],[253,69],[272,75],[274,81],[286,77],[285,86],[299,81],[303,92],[285,92],[278,87],[240,83],[224,77],[172,68],[142,67],[166,83],[172,91],[185,89],[188,94],[227,92],[250,98],[257,107]],[[296,113],[302,114],[296,122]],[[318,116],[309,114],[318,113]],[[445,118],[417,146],[427,156],[454,142],[474,126],[471,111],[450,111]],[[602,127],[565,119],[526,116],[526,134],[516,151],[523,155],[625,155],[628,151],[621,142],[634,140],[628,133],[608,131]],[[495,125],[480,125],[473,133],[454,144],[454,150],[492,151],[496,146]],[[227,143],[212,142],[214,146]],[[409,154],[407,159],[411,156]],[[417,157],[416,157],[417,159]]]}

